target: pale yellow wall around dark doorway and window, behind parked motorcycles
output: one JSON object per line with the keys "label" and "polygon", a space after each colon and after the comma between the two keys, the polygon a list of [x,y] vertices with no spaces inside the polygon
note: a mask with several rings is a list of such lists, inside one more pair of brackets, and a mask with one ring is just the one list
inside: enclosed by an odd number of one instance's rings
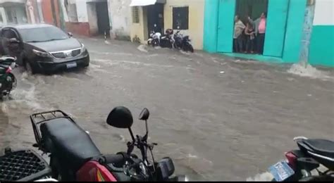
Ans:
{"label": "pale yellow wall around dark doorway and window, behind parked motorcycles", "polygon": [[[203,49],[204,1],[205,0],[166,0],[164,6],[163,27],[165,30],[173,28],[173,7],[189,6],[189,30],[181,30],[181,33],[190,36],[194,49]],[[144,7],[140,7],[139,9],[140,23],[132,23],[131,20],[131,39],[137,35],[144,44],[147,41],[147,15],[144,15],[145,11],[143,11],[143,8]]]}

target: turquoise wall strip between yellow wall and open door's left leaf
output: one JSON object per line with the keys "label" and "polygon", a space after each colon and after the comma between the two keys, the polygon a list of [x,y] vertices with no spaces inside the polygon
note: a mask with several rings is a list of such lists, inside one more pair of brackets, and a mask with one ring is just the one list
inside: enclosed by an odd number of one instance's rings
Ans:
{"label": "turquoise wall strip between yellow wall and open door's left leaf", "polygon": [[210,53],[217,52],[219,0],[206,0],[204,8],[203,48]]}

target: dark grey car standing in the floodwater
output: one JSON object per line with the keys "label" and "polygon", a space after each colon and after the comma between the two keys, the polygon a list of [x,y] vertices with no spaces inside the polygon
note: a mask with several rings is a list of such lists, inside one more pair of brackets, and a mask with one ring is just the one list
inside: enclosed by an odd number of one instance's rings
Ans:
{"label": "dark grey car standing in the floodwater", "polygon": [[[89,53],[72,34],[47,24],[2,27],[4,55],[16,56],[28,72],[50,73],[89,65]],[[1,47],[1,46],[0,46]]]}

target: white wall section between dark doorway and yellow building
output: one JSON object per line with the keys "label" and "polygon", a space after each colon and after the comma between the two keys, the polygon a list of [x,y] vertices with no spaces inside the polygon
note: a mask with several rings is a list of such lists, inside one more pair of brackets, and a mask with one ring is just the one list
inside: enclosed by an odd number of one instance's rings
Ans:
{"label": "white wall section between dark doorway and yellow building", "polygon": [[109,19],[113,36],[130,36],[131,0],[109,0]]}

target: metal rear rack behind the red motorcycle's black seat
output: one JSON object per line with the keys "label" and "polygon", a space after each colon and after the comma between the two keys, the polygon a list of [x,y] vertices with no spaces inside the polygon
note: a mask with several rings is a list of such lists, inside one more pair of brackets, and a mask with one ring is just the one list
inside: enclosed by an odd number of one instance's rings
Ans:
{"label": "metal rear rack behind the red motorcycle's black seat", "polygon": [[34,130],[37,147],[42,151],[44,151],[44,148],[42,144],[42,135],[41,132],[39,131],[39,126],[42,125],[44,122],[49,122],[50,120],[54,120],[56,118],[66,118],[69,120],[69,122],[73,122],[74,124],[76,124],[75,121],[72,118],[70,118],[68,114],[60,110],[35,113],[30,115],[30,121],[32,123],[32,129]]}

